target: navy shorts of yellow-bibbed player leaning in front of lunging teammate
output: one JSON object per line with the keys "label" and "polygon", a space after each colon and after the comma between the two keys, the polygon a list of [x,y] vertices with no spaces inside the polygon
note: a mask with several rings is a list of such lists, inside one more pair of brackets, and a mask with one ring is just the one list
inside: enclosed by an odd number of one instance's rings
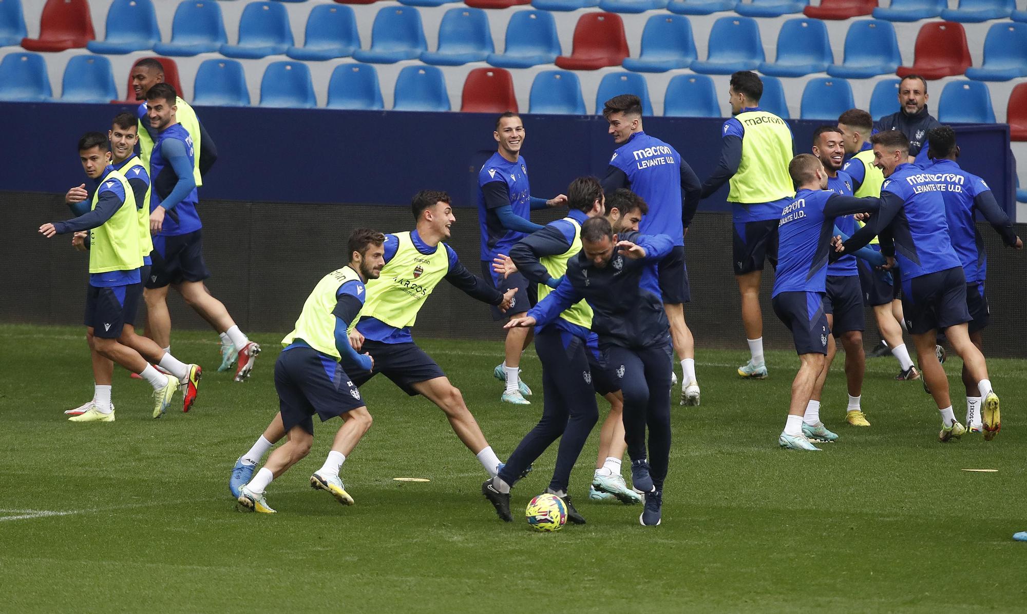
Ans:
{"label": "navy shorts of yellow-bibbed player leaning in front of lunging teammate", "polygon": [[313,434],[314,414],[325,422],[366,405],[342,366],[309,347],[294,347],[278,354],[274,389],[286,432],[302,426]]}

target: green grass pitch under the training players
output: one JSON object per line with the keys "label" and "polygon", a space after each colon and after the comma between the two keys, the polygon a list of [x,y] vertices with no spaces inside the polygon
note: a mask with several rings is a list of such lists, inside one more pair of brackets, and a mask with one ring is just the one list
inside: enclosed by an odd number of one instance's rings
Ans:
{"label": "green grass pitch under the training players", "polygon": [[[770,323],[769,325],[773,325]],[[991,332],[990,334],[998,334]],[[777,448],[794,353],[768,354],[770,378],[741,381],[743,352],[701,350],[702,406],[677,406],[663,524],[638,506],[596,503],[593,433],[572,475],[585,526],[553,534],[499,522],[482,467],[442,412],[385,378],[363,388],[374,426],[342,476],[342,507],[307,479],[311,455],[268,490],[276,515],[235,511],[228,473],[277,408],[280,334],[255,335],[253,378],[216,372],[217,338],[177,332],[179,356],[205,367],[187,415],[150,418],[149,387],[115,372],[113,424],[70,424],[91,395],[80,328],[0,327],[0,611],[3,612],[838,612],[1027,608],[1027,398],[1023,360],[990,360],[1001,433],[942,445],[919,382],[868,360],[873,426],[844,424],[840,360],[822,417],[839,443]],[[529,352],[530,407],[499,402],[499,343],[422,340],[505,458],[541,412]],[[956,415],[957,358],[946,364]],[[604,404],[600,402],[601,416]],[[555,450],[514,490],[517,514],[541,492]],[[963,468],[993,468],[971,473]],[[427,484],[392,477],[427,477]]]}

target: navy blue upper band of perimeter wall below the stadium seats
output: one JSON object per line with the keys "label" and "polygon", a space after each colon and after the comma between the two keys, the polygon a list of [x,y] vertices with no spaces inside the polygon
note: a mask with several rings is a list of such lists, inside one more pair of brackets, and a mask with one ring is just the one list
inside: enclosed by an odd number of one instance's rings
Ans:
{"label": "navy blue upper band of perimeter wall below the stadium seats", "polygon": [[[0,103],[0,125],[21,163],[0,164],[0,189],[64,193],[84,179],[75,144],[106,131],[116,105]],[[204,198],[259,202],[409,205],[421,189],[474,206],[477,176],[496,150],[495,115],[198,107],[218,146]],[[551,197],[576,177],[602,177],[614,149],[601,116],[523,115],[532,193]],[[790,120],[798,152],[821,121]],[[722,119],[649,117],[646,131],[670,143],[705,180],[717,165]],[[1015,219],[1015,163],[1009,126],[957,126],[960,164],[981,176]],[[700,210],[729,210],[727,187]]]}

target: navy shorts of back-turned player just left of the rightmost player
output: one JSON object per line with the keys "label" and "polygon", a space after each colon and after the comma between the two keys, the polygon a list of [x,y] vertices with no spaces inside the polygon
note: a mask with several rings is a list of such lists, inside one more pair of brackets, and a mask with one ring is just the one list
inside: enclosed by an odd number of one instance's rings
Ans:
{"label": "navy shorts of back-turned player just left of the rightmost player", "polygon": [[952,267],[902,281],[902,311],[912,335],[968,322],[966,277]]}

